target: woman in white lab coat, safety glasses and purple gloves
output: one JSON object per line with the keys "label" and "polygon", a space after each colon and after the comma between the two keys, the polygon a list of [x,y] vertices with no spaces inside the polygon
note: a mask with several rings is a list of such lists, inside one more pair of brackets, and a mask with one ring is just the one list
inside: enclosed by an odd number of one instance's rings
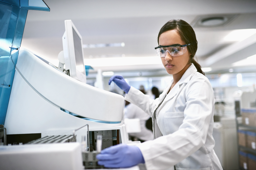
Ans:
{"label": "woman in white lab coat, safety glasses and purple gloves", "polygon": [[156,51],[173,76],[157,99],[129,86],[122,76],[114,81],[127,93],[125,100],[152,116],[154,140],[140,145],[107,148],[97,156],[105,167],[130,167],[145,163],[147,170],[222,170],[213,147],[213,89],[195,61],[197,39],[183,20],[171,20],[158,34]]}

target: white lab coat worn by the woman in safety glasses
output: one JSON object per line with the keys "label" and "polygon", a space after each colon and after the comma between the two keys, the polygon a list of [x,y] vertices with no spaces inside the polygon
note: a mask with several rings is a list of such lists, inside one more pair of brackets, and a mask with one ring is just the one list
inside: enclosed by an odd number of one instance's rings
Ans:
{"label": "white lab coat worn by the woman in safety glasses", "polygon": [[191,64],[167,94],[172,84],[173,80],[155,100],[133,87],[125,95],[152,116],[155,140],[138,146],[147,170],[174,165],[176,170],[222,170],[213,150],[215,99],[209,80]]}

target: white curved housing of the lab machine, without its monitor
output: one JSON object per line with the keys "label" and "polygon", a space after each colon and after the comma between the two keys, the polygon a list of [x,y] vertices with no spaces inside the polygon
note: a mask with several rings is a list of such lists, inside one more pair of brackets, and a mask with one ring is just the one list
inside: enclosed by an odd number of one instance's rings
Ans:
{"label": "white curved housing of the lab machine, without its monitor", "polygon": [[[123,106],[122,95],[73,79],[21,48],[4,126],[7,134],[41,133],[44,137],[72,134],[72,130],[89,124],[90,131],[119,129],[122,143],[127,143],[121,122]],[[84,120],[61,108],[106,123]],[[87,128],[84,130],[86,135]],[[78,142],[79,138],[78,134]]]}

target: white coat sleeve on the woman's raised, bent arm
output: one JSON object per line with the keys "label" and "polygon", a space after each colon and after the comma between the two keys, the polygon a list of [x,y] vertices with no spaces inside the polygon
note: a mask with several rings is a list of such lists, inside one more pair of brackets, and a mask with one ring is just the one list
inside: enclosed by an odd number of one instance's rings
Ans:
{"label": "white coat sleeve on the woman's raised, bent arm", "polygon": [[125,95],[124,99],[140,107],[143,111],[149,114],[150,117],[152,117],[156,103],[159,100],[159,98],[155,100],[150,99],[149,95],[143,94],[140,90],[137,90],[132,86],[128,94]]}

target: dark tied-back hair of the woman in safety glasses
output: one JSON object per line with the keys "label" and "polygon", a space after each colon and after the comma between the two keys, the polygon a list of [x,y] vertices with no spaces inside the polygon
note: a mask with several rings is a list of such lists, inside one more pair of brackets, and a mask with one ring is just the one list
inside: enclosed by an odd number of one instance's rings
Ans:
{"label": "dark tied-back hair of the woman in safety glasses", "polygon": [[[204,72],[201,69],[200,64],[195,59],[195,53],[197,52],[197,38],[195,36],[195,31],[186,21],[181,19],[173,19],[164,24],[164,26],[160,29],[158,33],[157,42],[159,45],[159,37],[162,33],[170,30],[176,30],[180,35],[181,39],[186,43],[190,44],[187,46],[187,50],[191,54],[189,56],[189,63],[193,63],[197,71],[203,75]],[[183,44],[182,44],[183,45]]]}

